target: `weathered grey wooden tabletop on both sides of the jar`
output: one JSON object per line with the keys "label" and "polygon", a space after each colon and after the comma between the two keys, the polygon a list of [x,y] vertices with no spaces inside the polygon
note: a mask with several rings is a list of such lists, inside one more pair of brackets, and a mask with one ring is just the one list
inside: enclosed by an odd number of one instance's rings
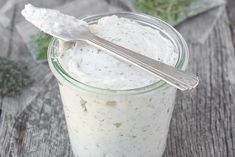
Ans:
{"label": "weathered grey wooden tabletop on both sides of the jar", "polygon": [[[0,0],[0,6],[6,1]],[[56,80],[47,64],[31,58],[15,28],[22,20],[22,6],[18,2],[6,13],[9,27],[0,25],[0,56],[27,65],[34,87],[16,98],[0,98],[0,156],[72,157]],[[188,71],[199,75],[200,84],[191,92],[177,93],[164,157],[235,156],[235,53],[225,18],[224,12],[205,43],[188,41]]]}

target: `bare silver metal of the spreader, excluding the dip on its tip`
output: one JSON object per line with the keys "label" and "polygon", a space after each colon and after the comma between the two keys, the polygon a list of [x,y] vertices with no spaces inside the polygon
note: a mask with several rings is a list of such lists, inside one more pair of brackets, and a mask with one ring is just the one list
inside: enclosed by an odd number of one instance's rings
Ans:
{"label": "bare silver metal of the spreader, excluding the dip on its tip", "polygon": [[[109,42],[103,38],[100,38],[89,31],[85,26],[83,28],[63,31],[63,33],[53,33],[51,34],[58,39],[63,41],[85,41],[90,45],[93,45],[105,52],[114,55],[122,60],[125,60],[131,64],[146,70],[160,79],[164,80],[168,84],[182,90],[190,90],[195,88],[198,83],[198,77],[192,74],[188,74],[182,70],[175,67],[169,66],[157,60],[151,59],[112,42]],[[82,30],[82,31],[81,31]]]}

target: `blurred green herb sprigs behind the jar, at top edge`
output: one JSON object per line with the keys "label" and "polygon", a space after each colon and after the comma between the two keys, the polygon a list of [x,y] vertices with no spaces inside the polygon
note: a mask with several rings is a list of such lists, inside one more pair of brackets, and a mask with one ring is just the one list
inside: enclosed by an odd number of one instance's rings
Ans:
{"label": "blurred green herb sprigs behind the jar, at top edge", "polygon": [[140,11],[158,16],[167,22],[178,21],[180,14],[186,11],[192,0],[135,0],[134,4]]}

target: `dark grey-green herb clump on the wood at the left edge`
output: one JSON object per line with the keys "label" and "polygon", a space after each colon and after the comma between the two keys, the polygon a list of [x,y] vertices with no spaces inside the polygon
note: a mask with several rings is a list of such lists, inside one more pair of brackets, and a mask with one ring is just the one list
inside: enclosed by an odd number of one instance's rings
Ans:
{"label": "dark grey-green herb clump on the wood at the left edge", "polygon": [[14,61],[0,58],[0,96],[13,97],[32,83],[26,74],[27,69]]}

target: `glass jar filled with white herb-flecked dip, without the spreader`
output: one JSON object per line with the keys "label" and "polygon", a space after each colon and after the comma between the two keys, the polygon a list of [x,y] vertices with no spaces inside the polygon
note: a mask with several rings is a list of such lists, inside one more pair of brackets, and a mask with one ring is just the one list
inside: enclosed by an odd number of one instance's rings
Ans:
{"label": "glass jar filled with white herb-flecked dip, without the spreader", "polygon": [[[167,23],[138,13],[83,19],[96,35],[185,70],[188,48]],[[107,33],[108,32],[108,33]],[[84,43],[48,49],[76,157],[161,157],[176,88]]]}

